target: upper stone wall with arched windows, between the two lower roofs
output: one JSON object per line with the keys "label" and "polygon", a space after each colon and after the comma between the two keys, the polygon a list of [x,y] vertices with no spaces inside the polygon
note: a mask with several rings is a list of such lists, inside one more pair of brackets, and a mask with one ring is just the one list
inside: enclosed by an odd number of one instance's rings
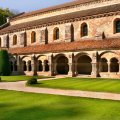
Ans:
{"label": "upper stone wall with arched windows, between the two lower roofs", "polygon": [[[120,15],[116,16],[106,16],[106,17],[101,17],[101,18],[94,18],[94,19],[87,19],[83,21],[75,21],[73,23],[65,23],[65,24],[57,24],[57,25],[52,25],[44,28],[36,28],[36,29],[31,29],[27,31],[20,31],[20,32],[14,32],[9,34],[9,40],[10,40],[10,47],[24,47],[23,44],[21,44],[21,34],[26,32],[27,35],[27,45],[38,45],[38,44],[45,44],[45,39],[48,40],[49,43],[56,43],[56,42],[70,42],[72,39],[74,41],[77,40],[91,40],[91,39],[96,39],[100,40],[102,39],[102,34],[104,33],[104,36],[106,38],[114,38],[114,37],[119,37],[120,33],[114,34],[114,20],[116,18],[120,18]],[[88,36],[82,37],[81,36],[81,25],[82,23],[86,23],[88,25]],[[58,40],[53,40],[53,30],[54,28],[59,28],[59,34],[60,37]],[[71,27],[73,31],[71,30]],[[45,37],[45,32],[47,30],[47,38]],[[69,30],[69,31],[68,31]],[[35,31],[36,32],[36,42],[31,43],[31,32]],[[66,31],[68,33],[66,33]],[[43,34],[44,33],[44,34]],[[13,46],[13,35],[17,35],[18,38],[18,44]],[[67,34],[67,37],[66,37]],[[72,36],[71,36],[72,34]],[[2,47],[4,47],[4,38],[5,35],[0,36],[2,38]],[[68,39],[69,37],[69,39]],[[73,37],[73,38],[72,38]]]}

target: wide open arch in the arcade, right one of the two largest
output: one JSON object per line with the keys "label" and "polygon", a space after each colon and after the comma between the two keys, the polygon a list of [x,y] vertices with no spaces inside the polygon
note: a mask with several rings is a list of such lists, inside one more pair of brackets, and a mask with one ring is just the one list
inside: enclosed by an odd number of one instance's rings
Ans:
{"label": "wide open arch in the arcade, right one of the two largest", "polygon": [[77,73],[91,75],[92,72],[92,60],[87,55],[82,55],[77,59]]}

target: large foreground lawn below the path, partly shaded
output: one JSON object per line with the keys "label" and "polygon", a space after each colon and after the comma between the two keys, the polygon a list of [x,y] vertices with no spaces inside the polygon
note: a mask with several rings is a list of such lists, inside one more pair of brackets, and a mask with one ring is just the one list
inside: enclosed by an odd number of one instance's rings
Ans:
{"label": "large foreground lawn below the path, partly shaded", "polygon": [[0,90],[0,120],[120,120],[120,102]]}

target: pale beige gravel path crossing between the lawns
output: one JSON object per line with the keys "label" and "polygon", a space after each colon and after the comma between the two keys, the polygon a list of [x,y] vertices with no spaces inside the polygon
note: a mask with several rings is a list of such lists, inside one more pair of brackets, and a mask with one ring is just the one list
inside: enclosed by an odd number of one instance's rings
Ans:
{"label": "pale beige gravel path crossing between the lawns", "polygon": [[[55,78],[52,78],[52,79],[55,79]],[[44,80],[50,80],[50,79],[44,79]],[[0,89],[1,90],[15,90],[15,91],[22,91],[22,92],[31,92],[31,93],[74,96],[74,97],[120,100],[120,94],[103,93],[103,92],[89,92],[89,91],[80,91],[80,90],[61,90],[61,89],[52,89],[52,88],[28,87],[25,85],[25,81],[1,82]]]}

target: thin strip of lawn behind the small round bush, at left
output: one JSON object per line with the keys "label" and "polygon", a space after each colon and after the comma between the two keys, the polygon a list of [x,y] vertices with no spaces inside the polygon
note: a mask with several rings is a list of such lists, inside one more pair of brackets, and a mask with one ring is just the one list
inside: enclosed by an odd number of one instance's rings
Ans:
{"label": "thin strip of lawn behind the small round bush, at left", "polygon": [[26,81],[32,77],[37,79],[48,78],[46,76],[1,76],[1,80],[2,82],[16,82],[16,81]]}

